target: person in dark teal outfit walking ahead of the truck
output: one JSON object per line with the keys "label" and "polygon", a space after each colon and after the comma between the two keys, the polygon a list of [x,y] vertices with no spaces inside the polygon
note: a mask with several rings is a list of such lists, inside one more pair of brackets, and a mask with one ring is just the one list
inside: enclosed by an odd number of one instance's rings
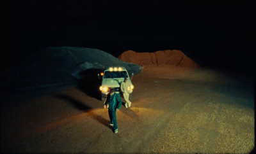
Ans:
{"label": "person in dark teal outfit walking ahead of the truck", "polygon": [[108,97],[104,102],[104,109],[108,106],[108,115],[110,118],[110,125],[114,127],[114,132],[118,132],[117,121],[116,121],[116,111],[122,106],[122,99],[120,94],[117,94],[113,88],[109,90]]}

